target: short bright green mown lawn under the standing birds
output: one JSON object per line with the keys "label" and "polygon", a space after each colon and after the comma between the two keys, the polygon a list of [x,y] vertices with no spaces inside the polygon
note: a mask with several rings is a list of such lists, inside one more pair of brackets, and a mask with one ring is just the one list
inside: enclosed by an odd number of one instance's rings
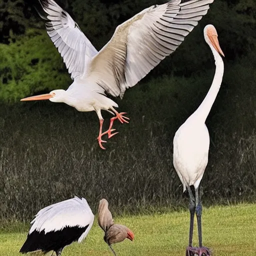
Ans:
{"label": "short bright green mown lawn under the standing birds", "polygon": [[[256,255],[256,204],[214,206],[203,209],[203,245],[218,256]],[[135,234],[134,241],[114,244],[117,255],[185,255],[188,240],[189,213],[126,216],[114,219],[127,225]],[[28,226],[17,225],[0,232],[0,255],[20,255],[19,248],[26,238]],[[194,232],[194,245],[197,232]],[[109,255],[111,251],[103,241],[103,232],[96,221],[87,239],[64,248],[62,255]]]}

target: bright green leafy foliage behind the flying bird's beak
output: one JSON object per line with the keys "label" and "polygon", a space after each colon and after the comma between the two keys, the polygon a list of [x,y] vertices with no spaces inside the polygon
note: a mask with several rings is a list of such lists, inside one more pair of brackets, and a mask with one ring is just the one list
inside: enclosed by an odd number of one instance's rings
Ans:
{"label": "bright green leafy foliage behind the flying bird's beak", "polygon": [[28,29],[9,45],[0,44],[0,99],[17,101],[37,91],[66,88],[71,79],[46,31]]}

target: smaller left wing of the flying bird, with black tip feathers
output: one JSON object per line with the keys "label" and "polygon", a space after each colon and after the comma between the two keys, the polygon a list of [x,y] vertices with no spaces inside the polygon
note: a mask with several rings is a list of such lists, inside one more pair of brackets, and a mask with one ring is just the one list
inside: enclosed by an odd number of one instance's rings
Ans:
{"label": "smaller left wing of the flying bird, with black tip feathers", "polygon": [[80,30],[71,16],[53,0],[39,0],[44,13],[45,26],[50,39],[58,48],[71,78],[83,74],[87,62],[97,50]]}

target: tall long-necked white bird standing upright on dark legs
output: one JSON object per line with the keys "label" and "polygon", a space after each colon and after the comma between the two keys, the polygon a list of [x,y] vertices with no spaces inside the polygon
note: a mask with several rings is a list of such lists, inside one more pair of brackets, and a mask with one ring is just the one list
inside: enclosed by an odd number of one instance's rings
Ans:
{"label": "tall long-necked white bird standing upright on dark legs", "polygon": [[[189,242],[186,249],[187,256],[194,255],[195,253],[198,256],[203,254],[205,256],[210,255],[209,249],[202,247],[202,206],[199,196],[199,184],[208,162],[209,133],[205,120],[220,88],[224,72],[224,64],[220,56],[224,56],[224,54],[219,46],[215,27],[213,25],[206,25],[203,32],[204,39],[210,46],[215,59],[216,69],[214,78],[202,103],[178,128],[173,138],[173,165],[183,184],[183,190],[187,188],[189,194],[190,228]],[[195,189],[195,198],[190,188],[191,185]],[[192,247],[194,213],[197,218],[198,248]]]}

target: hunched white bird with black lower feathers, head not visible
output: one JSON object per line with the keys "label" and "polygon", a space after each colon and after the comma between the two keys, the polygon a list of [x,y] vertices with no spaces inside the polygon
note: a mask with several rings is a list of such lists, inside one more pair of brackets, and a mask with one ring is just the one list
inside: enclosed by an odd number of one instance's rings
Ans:
{"label": "hunched white bird with black lower feathers, head not visible", "polygon": [[57,256],[64,246],[81,242],[88,234],[94,215],[84,198],[74,197],[51,204],[37,212],[19,252],[52,251]]}

